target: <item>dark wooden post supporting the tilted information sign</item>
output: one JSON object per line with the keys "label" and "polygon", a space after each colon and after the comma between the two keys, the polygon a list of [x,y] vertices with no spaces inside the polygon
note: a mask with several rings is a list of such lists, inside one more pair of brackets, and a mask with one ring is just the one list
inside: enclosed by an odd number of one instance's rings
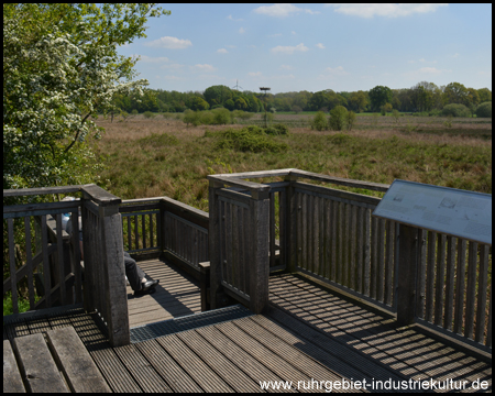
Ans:
{"label": "dark wooden post supporting the tilted information sign", "polygon": [[399,226],[398,326],[411,324],[415,321],[416,277],[419,257],[418,232],[417,228]]}

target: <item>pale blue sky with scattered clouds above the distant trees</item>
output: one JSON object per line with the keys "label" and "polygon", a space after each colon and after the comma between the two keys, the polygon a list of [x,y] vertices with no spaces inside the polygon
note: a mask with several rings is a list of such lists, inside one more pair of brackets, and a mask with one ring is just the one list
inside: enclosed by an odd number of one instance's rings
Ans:
{"label": "pale blue sky with scattered clouds above the distant trees", "polygon": [[410,88],[492,89],[492,4],[163,4],[139,55],[150,88],[212,85],[273,94]]}

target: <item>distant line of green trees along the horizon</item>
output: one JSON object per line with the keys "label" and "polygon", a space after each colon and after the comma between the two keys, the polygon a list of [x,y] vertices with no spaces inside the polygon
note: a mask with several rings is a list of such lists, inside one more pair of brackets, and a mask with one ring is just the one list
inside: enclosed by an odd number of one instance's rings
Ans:
{"label": "distant line of green trees along the horizon", "polygon": [[431,112],[433,114],[448,105],[465,106],[471,113],[484,102],[492,101],[488,88],[466,88],[460,82],[437,86],[433,82],[421,81],[410,88],[391,89],[376,86],[370,91],[336,92],[326,89],[318,92],[299,91],[284,94],[261,94],[239,91],[223,85],[207,88],[205,91],[166,91],[147,89],[144,96],[116,94],[113,105],[125,112],[183,112],[190,110],[211,110],[226,108],[250,112],[264,111],[331,111],[343,106],[349,111],[382,111],[391,112]]}

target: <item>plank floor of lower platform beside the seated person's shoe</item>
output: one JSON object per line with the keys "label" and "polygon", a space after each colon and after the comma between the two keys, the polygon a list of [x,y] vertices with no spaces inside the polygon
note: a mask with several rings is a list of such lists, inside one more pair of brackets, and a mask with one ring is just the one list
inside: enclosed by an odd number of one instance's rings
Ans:
{"label": "plank floor of lower platform beside the seated person's shoe", "polygon": [[128,286],[131,328],[201,311],[199,282],[160,260],[141,261],[138,265],[160,284],[155,293],[144,296],[134,296]]}

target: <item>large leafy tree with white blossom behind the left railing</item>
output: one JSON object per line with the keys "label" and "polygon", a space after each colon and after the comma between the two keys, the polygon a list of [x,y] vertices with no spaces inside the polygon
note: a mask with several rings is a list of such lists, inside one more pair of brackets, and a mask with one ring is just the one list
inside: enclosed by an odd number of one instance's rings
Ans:
{"label": "large leafy tree with white blossom behind the left railing", "polygon": [[3,188],[97,182],[91,120],[116,92],[140,92],[138,58],[154,4],[3,4]]}

